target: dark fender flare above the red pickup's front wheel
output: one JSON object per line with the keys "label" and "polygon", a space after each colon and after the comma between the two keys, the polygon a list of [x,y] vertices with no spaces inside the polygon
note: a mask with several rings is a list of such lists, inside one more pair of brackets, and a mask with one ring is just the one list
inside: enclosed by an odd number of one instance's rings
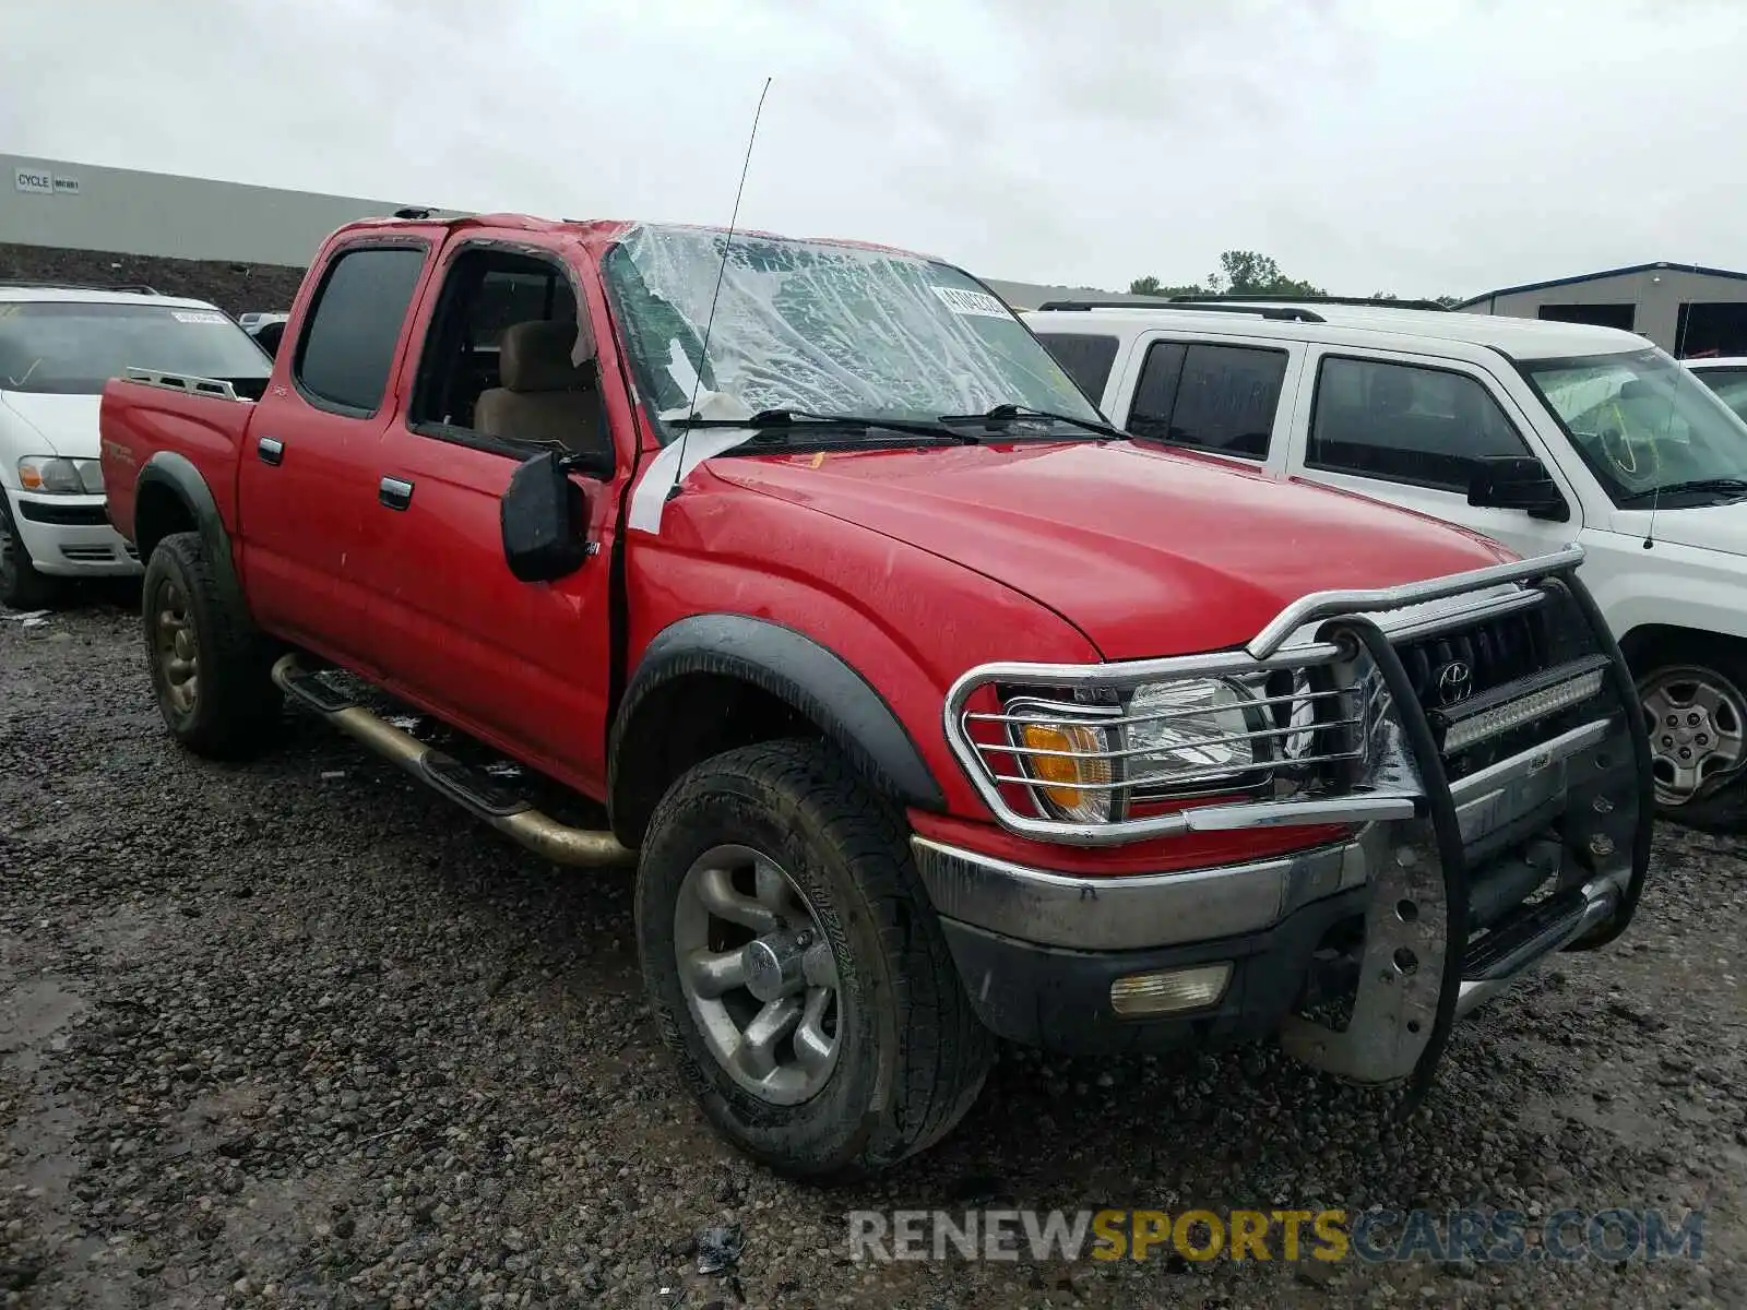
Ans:
{"label": "dark fender flare above the red pickup's front wheel", "polygon": [[943,810],[945,793],[908,728],[840,655],[804,632],[749,615],[690,615],[662,629],[638,662],[608,737],[608,795],[618,796],[625,734],[650,695],[674,678],[739,678],[816,723],[887,796]]}

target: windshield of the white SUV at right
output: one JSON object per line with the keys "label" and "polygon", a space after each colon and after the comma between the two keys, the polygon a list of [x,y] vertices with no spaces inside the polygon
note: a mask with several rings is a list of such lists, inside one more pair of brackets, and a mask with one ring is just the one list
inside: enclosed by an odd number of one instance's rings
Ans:
{"label": "windshield of the white SUV at right", "polygon": [[[1660,349],[1525,360],[1614,505],[1738,500],[1747,487],[1747,424]],[[1660,503],[1660,501],[1658,501]]]}

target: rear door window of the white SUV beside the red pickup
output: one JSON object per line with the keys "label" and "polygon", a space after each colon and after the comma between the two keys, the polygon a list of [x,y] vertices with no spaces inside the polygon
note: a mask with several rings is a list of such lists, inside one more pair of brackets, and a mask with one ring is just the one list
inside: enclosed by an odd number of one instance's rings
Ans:
{"label": "rear door window of the white SUV beside the red pickup", "polygon": [[1158,341],[1146,351],[1129,431],[1195,451],[1267,459],[1286,351]]}

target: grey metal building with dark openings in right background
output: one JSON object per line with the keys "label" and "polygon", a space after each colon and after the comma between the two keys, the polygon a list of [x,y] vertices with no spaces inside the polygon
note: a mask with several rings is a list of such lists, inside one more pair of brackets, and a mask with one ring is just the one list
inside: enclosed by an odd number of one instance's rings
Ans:
{"label": "grey metal building with dark openings in right background", "polygon": [[1747,355],[1747,272],[1698,264],[1632,264],[1504,286],[1457,309],[1626,328],[1679,358]]}

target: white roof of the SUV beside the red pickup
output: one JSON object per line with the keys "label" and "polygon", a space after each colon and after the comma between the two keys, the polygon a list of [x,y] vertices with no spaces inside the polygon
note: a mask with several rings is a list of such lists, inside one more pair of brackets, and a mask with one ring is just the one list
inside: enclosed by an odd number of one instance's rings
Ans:
{"label": "white roof of the SUV beside the red pickup", "polygon": [[[1129,325],[1158,323],[1169,320],[1172,327],[1202,327],[1218,330],[1219,318],[1232,314],[1242,318],[1246,306],[1261,309],[1291,307],[1303,311],[1303,318],[1286,323],[1267,321],[1270,335],[1315,341],[1321,328],[1363,328],[1364,332],[1387,332],[1394,337],[1420,341],[1462,341],[1474,346],[1490,346],[1513,360],[1558,360],[1578,355],[1616,355],[1623,351],[1640,351],[1649,348],[1649,341],[1619,328],[1593,327],[1590,323],[1555,323],[1539,318],[1508,318],[1502,314],[1467,314],[1448,309],[1396,309],[1384,304],[1329,304],[1324,300],[1219,300],[1219,314],[1198,309],[1195,302],[1170,304],[1111,304],[1087,309],[1071,309],[1073,300],[1060,302],[1062,309],[1038,309],[1027,314],[1031,325],[1046,332],[1052,321],[1076,318],[1085,321],[1120,321]],[[1212,306],[1212,302],[1202,302]],[[1246,330],[1253,330],[1246,323]],[[1403,341],[1403,348],[1410,342]]]}

